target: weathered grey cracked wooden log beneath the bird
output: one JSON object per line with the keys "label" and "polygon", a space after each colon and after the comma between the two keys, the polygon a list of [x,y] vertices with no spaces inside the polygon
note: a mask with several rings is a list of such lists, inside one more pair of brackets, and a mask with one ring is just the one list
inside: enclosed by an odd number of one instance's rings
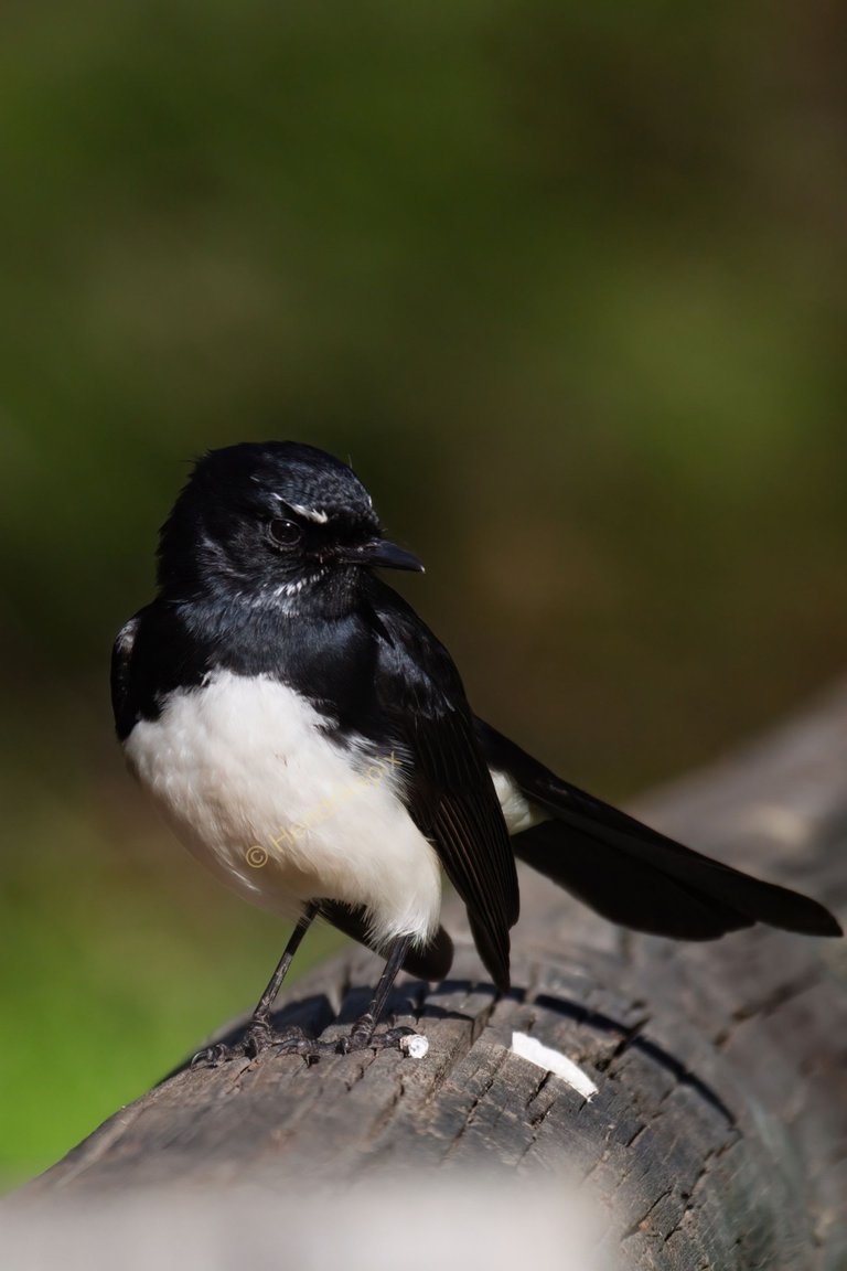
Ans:
{"label": "weathered grey cracked wooden log beneath the bird", "polygon": [[[809,891],[843,921],[847,688],[637,812]],[[508,999],[481,979],[467,941],[448,982],[395,991],[397,1021],[429,1037],[424,1060],[368,1052],[307,1068],[263,1055],[182,1071],[25,1197],[44,1214],[62,1197],[113,1202],[141,1186],[220,1196],[249,1183],[283,1202],[310,1185],[366,1188],[386,1176],[465,1186],[484,1167],[509,1187],[538,1173],[563,1196],[579,1185],[601,1233],[592,1265],[843,1271],[847,942],[754,928],[677,944],[616,929],[528,871],[522,888]],[[448,925],[462,929],[458,914]],[[377,967],[350,949],[288,990],[281,1021],[339,1032]],[[579,1064],[594,1098],[512,1054],[514,1030]],[[557,1265],[588,1266],[564,1251]]]}

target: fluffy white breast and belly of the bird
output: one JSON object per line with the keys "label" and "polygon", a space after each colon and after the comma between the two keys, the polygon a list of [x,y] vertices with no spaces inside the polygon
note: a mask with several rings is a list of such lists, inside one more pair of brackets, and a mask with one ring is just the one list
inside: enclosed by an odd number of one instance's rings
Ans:
{"label": "fluffy white breast and belly of the bird", "polygon": [[124,742],[130,766],[189,850],[286,915],[364,905],[376,941],[438,925],[441,869],[397,791],[397,754],[335,745],[326,721],[269,677],[215,672]]}

